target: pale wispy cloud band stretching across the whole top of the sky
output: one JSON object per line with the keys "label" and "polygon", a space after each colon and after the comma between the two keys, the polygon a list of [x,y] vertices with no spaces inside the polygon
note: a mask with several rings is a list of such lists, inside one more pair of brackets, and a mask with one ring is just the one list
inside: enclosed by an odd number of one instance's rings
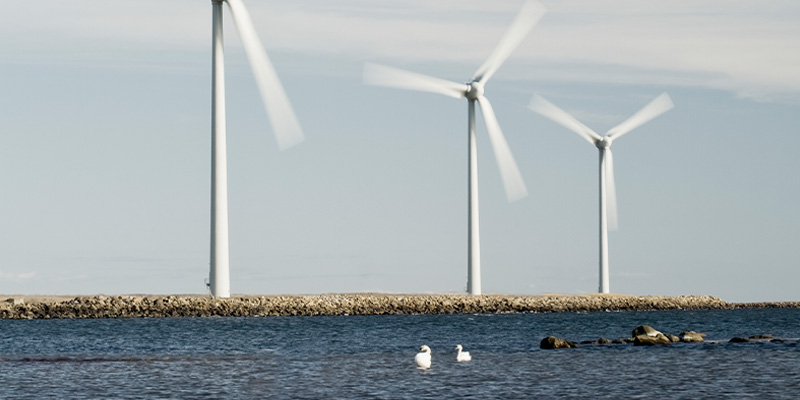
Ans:
{"label": "pale wispy cloud band stretching across the whole top of the sky", "polygon": [[[800,3],[543,2],[548,14],[498,79],[695,86],[760,100],[800,97]],[[489,54],[522,1],[246,4],[265,46],[276,52],[469,69]],[[206,53],[210,41],[210,4],[203,2],[42,0],[13,8],[0,16],[0,60],[6,62],[46,59],[51,52],[113,63],[108,52]],[[233,22],[226,24],[232,28]],[[226,36],[238,47],[234,29]]]}

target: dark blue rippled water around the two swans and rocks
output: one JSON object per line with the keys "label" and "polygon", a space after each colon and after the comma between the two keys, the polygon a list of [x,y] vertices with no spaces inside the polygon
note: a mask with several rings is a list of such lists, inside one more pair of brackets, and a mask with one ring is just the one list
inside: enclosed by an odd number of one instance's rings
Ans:
{"label": "dark blue rippled water around the two swans and rocks", "polygon": [[794,341],[539,349],[641,324],[796,339],[800,310],[3,320],[0,398],[800,398]]}

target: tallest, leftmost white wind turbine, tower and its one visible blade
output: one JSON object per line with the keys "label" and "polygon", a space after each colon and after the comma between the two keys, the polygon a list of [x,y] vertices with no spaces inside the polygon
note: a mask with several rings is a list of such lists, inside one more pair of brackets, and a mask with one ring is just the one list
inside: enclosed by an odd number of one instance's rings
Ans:
{"label": "tallest, leftmost white wind turbine, tower and its one visible blade", "polygon": [[303,141],[303,132],[283,91],[278,75],[258,38],[253,21],[241,0],[211,0],[213,6],[213,54],[211,78],[211,295],[230,297],[228,264],[228,169],[225,147],[225,63],[223,58],[222,3],[228,3],[239,31],[272,130],[281,150]]}

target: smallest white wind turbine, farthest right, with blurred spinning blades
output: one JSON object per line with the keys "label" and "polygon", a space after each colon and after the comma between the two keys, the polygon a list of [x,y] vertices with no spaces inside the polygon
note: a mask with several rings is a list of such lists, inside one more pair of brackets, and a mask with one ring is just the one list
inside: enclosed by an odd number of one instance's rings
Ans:
{"label": "smallest white wind turbine, farthest right, with blurred spinning blades", "polygon": [[638,126],[669,111],[672,99],[662,93],[623,123],[611,128],[605,136],[598,135],[573,116],[539,95],[533,95],[530,109],[581,135],[600,150],[600,293],[609,293],[608,287],[608,231],[617,230],[617,189],[614,184],[614,159],[611,142]]}

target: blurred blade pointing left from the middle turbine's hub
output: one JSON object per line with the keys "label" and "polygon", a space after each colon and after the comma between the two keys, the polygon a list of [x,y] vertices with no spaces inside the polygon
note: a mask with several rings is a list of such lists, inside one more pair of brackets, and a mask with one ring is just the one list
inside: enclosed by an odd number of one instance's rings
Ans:
{"label": "blurred blade pointing left from the middle turbine's hub", "polygon": [[463,83],[409,72],[384,65],[364,63],[364,83],[397,89],[419,90],[461,98],[469,87]]}

